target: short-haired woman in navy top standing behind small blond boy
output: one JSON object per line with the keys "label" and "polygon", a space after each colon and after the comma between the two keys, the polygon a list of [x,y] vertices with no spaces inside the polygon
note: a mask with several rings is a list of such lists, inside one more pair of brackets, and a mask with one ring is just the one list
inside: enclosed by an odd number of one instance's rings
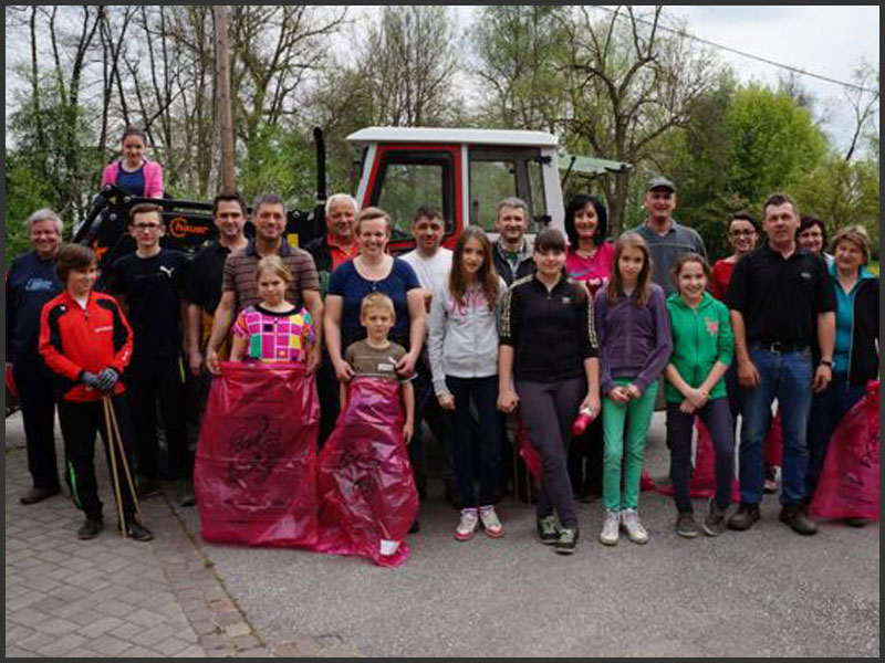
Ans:
{"label": "short-haired woman in navy top standing behind small blond boy", "polygon": [[372,292],[383,292],[394,302],[396,322],[391,340],[406,348],[406,356],[397,364],[397,371],[410,376],[421,350],[425,330],[425,308],[421,287],[412,266],[387,255],[391,240],[391,217],[378,208],[366,208],[356,221],[356,240],[360,255],[341,264],[329,280],[325,298],[325,343],[335,375],[346,382],[353,369],[344,360],[343,348],[365,338],[360,323],[363,297]]}

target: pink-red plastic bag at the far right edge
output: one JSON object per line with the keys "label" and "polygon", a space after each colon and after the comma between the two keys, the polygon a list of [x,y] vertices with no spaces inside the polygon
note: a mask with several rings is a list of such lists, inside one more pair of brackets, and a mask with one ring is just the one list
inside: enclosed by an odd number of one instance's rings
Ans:
{"label": "pink-red plastic bag at the far right edge", "polygon": [[810,511],[818,518],[878,520],[878,380],[830,439]]}

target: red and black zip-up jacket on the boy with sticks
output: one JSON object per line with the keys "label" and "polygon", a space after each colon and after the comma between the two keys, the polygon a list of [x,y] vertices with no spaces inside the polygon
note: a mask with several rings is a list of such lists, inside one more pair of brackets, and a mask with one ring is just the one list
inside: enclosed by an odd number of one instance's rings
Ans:
{"label": "red and black zip-up jacket on the boy with sticks", "polygon": [[[60,398],[96,401],[102,392],[80,381],[83,372],[111,367],[123,375],[132,358],[132,328],[113,297],[92,292],[83,309],[65,291],[43,306],[40,354],[55,373]],[[115,392],[124,391],[117,381]]]}

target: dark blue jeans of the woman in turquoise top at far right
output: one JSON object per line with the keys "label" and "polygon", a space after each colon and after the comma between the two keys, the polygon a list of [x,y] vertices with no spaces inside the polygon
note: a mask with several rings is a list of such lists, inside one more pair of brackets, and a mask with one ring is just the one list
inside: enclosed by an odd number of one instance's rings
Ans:
{"label": "dark blue jeans of the woman in turquoise top at far right", "polygon": [[833,381],[814,394],[809,420],[809,469],[805,474],[805,494],[811,497],[821,478],[830,438],[845,414],[864,396],[863,385],[848,385],[847,373],[833,373]]}

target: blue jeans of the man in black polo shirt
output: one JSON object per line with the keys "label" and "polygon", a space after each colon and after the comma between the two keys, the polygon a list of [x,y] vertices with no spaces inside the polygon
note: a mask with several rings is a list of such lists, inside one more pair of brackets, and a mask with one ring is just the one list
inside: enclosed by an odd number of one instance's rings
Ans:
{"label": "blue jeans of the man in black polo shirt", "polygon": [[783,424],[783,484],[781,504],[805,498],[809,448],[805,441],[812,397],[811,350],[773,352],[750,346],[761,383],[743,390],[743,427],[740,435],[740,501],[762,501],[762,444],[771,424],[771,403],[780,403]]}

